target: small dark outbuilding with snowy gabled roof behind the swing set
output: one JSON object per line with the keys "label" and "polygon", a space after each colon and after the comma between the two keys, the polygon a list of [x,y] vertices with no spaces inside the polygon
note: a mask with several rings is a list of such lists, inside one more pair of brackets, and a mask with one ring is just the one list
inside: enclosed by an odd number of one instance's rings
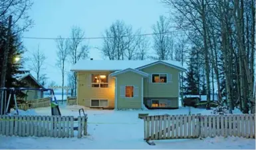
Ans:
{"label": "small dark outbuilding with snowy gabled roof behind the swing set", "polygon": [[[25,83],[29,88],[45,89],[43,85],[37,82],[37,80],[30,73],[22,74],[17,79]],[[43,98],[43,91],[25,90],[23,93],[27,94],[23,100],[35,100],[38,98]]]}

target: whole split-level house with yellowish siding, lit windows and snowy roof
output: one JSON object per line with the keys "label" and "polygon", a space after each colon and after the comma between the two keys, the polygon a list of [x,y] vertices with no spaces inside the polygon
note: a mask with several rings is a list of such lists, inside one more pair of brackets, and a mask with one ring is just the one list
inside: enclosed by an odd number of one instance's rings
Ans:
{"label": "whole split-level house with yellowish siding, lit windows and snowy roof", "polygon": [[90,108],[178,108],[178,61],[83,60],[77,75],[78,104]]}

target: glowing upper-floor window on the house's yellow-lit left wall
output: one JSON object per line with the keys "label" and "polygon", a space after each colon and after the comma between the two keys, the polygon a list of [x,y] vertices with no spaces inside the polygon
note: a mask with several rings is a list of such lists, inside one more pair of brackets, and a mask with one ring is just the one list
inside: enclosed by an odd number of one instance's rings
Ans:
{"label": "glowing upper-floor window on the house's yellow-lit left wall", "polygon": [[92,87],[108,87],[108,75],[92,74]]}

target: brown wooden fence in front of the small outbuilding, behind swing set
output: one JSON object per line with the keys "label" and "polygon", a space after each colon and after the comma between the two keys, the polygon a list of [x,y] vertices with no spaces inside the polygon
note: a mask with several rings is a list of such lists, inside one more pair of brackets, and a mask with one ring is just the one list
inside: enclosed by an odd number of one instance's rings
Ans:
{"label": "brown wooden fence in front of the small outbuilding, behind swing set", "polygon": [[29,100],[27,103],[18,104],[18,108],[21,110],[27,110],[29,108],[45,108],[49,106],[51,106],[51,97]]}

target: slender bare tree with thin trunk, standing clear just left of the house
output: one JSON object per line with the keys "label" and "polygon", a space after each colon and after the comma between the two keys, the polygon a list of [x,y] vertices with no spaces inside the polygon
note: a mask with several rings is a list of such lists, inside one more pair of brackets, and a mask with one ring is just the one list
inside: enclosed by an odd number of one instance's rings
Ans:
{"label": "slender bare tree with thin trunk, standing clear just left of the house", "polygon": [[[61,75],[62,75],[62,86],[64,87],[64,75],[66,73],[66,59],[68,57],[68,41],[59,36],[59,38],[56,40],[57,42],[57,67],[61,69]],[[64,89],[62,89],[62,101],[63,101],[63,94]]]}

